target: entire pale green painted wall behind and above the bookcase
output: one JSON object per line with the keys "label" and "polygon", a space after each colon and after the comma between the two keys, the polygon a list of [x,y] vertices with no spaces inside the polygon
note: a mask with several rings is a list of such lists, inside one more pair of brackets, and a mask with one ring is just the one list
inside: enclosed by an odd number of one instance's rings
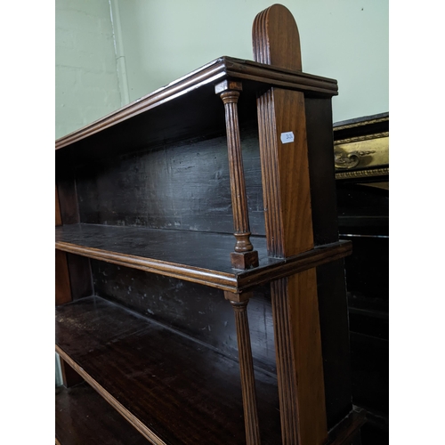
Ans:
{"label": "entire pale green painted wall behind and above the bookcase", "polygon": [[[388,111],[388,0],[281,3],[300,30],[303,70],[338,81],[334,121]],[[271,4],[56,0],[56,133],[85,125],[219,56],[252,59],[253,20]]]}

